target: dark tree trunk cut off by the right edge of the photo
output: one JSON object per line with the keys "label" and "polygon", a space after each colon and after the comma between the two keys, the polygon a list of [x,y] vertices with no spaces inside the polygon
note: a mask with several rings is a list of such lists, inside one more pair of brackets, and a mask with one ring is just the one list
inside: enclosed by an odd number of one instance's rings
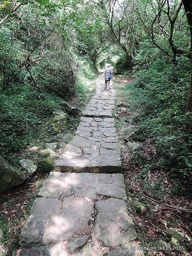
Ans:
{"label": "dark tree trunk cut off by the right edge of the photo", "polygon": [[[192,1],[183,0],[183,6],[186,12],[186,17],[189,24],[190,34],[191,34],[191,47],[190,47],[190,52],[188,54],[188,57],[192,66]],[[188,100],[186,103],[186,113],[188,113],[189,115],[192,115],[192,67],[191,67],[191,84],[189,89]]]}

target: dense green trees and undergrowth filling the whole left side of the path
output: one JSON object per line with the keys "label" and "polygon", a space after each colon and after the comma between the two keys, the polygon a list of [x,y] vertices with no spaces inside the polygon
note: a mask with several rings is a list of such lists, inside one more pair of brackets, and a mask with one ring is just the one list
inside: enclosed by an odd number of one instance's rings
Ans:
{"label": "dense green trees and undergrowth filling the whole left side of the path", "polygon": [[[89,55],[80,47],[79,3],[0,5],[0,149],[11,163],[17,163],[17,153],[28,145],[52,140],[57,134],[50,124],[54,110],[69,112],[69,104],[78,108],[88,89],[85,80],[95,76]],[[70,128],[75,116],[68,114]]]}

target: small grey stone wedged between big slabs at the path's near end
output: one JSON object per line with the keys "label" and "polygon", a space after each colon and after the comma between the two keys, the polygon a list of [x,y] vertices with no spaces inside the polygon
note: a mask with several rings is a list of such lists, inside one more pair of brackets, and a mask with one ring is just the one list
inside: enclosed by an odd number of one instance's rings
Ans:
{"label": "small grey stone wedged between big slabs at the path's near end", "polygon": [[67,243],[67,248],[69,253],[74,253],[77,249],[81,248],[86,244],[89,236],[77,236],[71,237]]}

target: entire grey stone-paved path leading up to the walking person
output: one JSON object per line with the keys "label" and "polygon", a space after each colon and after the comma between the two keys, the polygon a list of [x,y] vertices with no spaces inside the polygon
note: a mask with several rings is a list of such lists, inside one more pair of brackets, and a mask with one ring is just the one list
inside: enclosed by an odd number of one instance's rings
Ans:
{"label": "entire grey stone-paved path leading up to the walking person", "polygon": [[114,173],[121,170],[120,144],[111,118],[115,90],[105,92],[100,84],[98,79],[77,137],[55,161],[55,170],[32,205],[20,234],[20,256],[138,253],[115,249],[129,245],[136,233],[125,202],[124,177]]}

